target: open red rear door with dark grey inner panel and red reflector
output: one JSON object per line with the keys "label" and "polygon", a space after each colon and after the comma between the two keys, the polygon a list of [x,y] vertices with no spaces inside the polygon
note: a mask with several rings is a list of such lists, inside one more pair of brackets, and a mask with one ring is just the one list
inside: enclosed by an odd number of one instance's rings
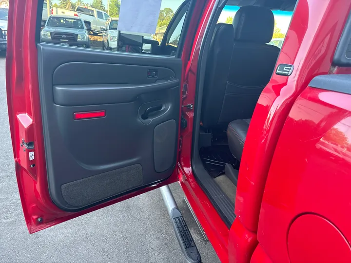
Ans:
{"label": "open red rear door with dark grey inner panel and red reflector", "polygon": [[[41,35],[57,44],[40,42],[41,10],[40,0],[10,2],[6,58],[16,175],[31,233],[178,180],[178,43],[155,47],[171,56],[77,48],[62,44],[77,37],[62,28]],[[79,22],[69,19],[59,21]],[[185,34],[181,28],[173,32]]]}

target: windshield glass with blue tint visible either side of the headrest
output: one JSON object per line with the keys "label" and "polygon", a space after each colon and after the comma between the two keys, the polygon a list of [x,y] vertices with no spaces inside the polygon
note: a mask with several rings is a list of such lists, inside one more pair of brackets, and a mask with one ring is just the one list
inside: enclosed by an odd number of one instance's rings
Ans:
{"label": "windshield glass with blue tint visible either side of the headrest", "polygon": [[[219,16],[218,23],[232,24],[237,10],[239,10],[238,6],[226,5]],[[280,10],[272,10],[272,12],[274,16],[274,32],[272,41],[268,44],[281,48],[292,19],[292,12]]]}

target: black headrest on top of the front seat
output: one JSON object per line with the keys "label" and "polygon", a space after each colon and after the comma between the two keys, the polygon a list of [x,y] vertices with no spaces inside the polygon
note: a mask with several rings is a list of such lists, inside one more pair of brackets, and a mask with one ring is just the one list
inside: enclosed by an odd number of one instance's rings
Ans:
{"label": "black headrest on top of the front seat", "polygon": [[274,16],[270,9],[260,6],[243,6],[233,19],[234,40],[269,43],[273,37]]}

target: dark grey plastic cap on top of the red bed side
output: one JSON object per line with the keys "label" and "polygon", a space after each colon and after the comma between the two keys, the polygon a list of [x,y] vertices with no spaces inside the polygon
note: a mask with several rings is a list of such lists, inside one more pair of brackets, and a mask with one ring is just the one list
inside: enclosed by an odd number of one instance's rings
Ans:
{"label": "dark grey plastic cap on top of the red bed side", "polygon": [[351,94],[351,74],[319,75],[312,78],[312,88]]}

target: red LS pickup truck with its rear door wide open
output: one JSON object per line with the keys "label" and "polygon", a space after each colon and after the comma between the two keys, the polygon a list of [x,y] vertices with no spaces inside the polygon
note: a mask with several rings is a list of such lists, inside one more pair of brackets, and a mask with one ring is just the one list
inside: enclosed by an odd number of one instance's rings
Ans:
{"label": "red LS pickup truck with its rear door wide open", "polygon": [[186,0],[149,54],[40,43],[40,5],[10,2],[6,58],[30,233],[160,188],[200,262],[179,181],[222,262],[351,262],[350,0]]}

